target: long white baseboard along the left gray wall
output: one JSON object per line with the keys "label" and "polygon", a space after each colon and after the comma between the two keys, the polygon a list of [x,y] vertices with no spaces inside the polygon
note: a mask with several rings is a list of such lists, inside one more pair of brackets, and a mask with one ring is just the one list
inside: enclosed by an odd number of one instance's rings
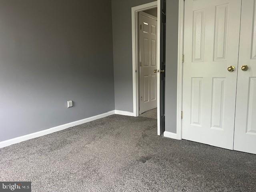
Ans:
{"label": "long white baseboard along the left gray wall", "polygon": [[47,134],[50,134],[50,133],[54,133],[54,132],[57,132],[57,131],[60,131],[60,130],[64,130],[66,128],[70,128],[70,127],[73,127],[73,126],[76,126],[76,125],[84,124],[84,123],[94,121],[94,120],[97,120],[97,119],[100,119],[100,118],[104,118],[106,116],[110,116],[110,115],[113,115],[113,114],[115,114],[115,110],[112,110],[110,112],[106,112],[106,113],[103,113],[103,114],[99,114],[99,115],[96,115],[96,116],[92,116],[92,117],[89,117],[89,118],[85,118],[85,119],[82,119],[82,120],[74,121],[74,122],[71,122],[71,123],[67,123],[67,124],[64,124],[64,125],[56,126],[56,127],[50,128],[50,129],[38,131],[38,132],[31,133],[31,134],[28,134],[28,135],[20,136],[20,137],[16,137],[16,138],[9,139],[9,140],[6,140],[6,141],[1,141],[0,142],[0,148],[6,147],[6,146],[9,146],[9,145],[12,145],[12,144],[16,144],[16,143],[19,143],[19,142],[22,142],[22,141],[26,141],[26,140],[29,140],[29,139],[32,139],[32,138],[44,136],[44,135],[47,135]]}

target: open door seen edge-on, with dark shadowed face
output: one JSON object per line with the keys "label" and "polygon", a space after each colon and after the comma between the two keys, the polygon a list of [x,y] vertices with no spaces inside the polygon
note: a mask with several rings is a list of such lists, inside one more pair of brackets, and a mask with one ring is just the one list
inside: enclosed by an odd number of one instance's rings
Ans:
{"label": "open door seen edge-on, with dark shadowed face", "polygon": [[[166,58],[166,0],[158,0],[158,135],[165,130],[165,58]],[[158,50],[159,50],[158,49]]]}

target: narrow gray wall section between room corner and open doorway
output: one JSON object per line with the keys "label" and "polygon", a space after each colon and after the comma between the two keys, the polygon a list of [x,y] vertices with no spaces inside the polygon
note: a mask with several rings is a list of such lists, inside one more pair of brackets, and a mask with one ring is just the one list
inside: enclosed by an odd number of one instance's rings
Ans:
{"label": "narrow gray wall section between room corner and open doorway", "polygon": [[131,8],[154,0],[112,0],[115,108],[133,112]]}

